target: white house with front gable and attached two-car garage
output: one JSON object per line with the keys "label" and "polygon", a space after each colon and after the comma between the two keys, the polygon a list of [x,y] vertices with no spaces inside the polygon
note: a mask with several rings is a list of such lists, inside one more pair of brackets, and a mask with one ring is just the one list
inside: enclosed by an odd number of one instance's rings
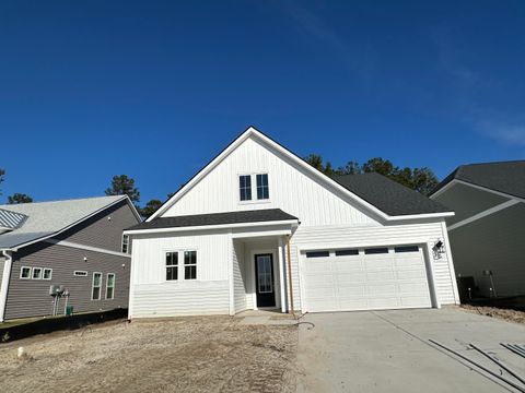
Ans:
{"label": "white house with front gable and attached two-car garage", "polygon": [[380,175],[331,179],[248,128],[125,231],[129,317],[457,303],[453,214]]}

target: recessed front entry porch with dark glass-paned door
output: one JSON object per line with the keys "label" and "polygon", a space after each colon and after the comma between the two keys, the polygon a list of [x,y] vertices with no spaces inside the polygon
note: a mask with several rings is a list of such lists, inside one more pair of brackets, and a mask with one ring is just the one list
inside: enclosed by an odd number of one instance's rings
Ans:
{"label": "recessed front entry porch with dark glass-paned door", "polygon": [[232,238],[233,303],[245,310],[288,311],[285,236]]}

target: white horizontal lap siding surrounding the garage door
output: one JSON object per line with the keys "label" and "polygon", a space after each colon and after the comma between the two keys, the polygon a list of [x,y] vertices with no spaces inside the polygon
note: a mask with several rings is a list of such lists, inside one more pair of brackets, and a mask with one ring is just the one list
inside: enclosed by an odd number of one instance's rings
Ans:
{"label": "white horizontal lap siding surrounding the garage door", "polygon": [[[294,291],[294,307],[301,308],[301,288],[299,274],[300,251],[304,250],[331,250],[346,247],[394,246],[409,243],[433,243],[444,239],[442,224],[406,224],[383,227],[300,227],[291,239],[292,243],[292,278]],[[450,247],[448,245],[446,245]],[[446,254],[441,259],[431,261],[434,272],[434,284],[438,298],[442,305],[456,302],[454,276]]]}

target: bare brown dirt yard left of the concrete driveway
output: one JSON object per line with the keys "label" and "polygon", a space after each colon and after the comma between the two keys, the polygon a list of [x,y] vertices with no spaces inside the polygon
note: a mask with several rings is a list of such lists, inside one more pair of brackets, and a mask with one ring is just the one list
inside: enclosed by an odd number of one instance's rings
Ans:
{"label": "bare brown dirt yard left of the concrete driveway", "polygon": [[0,392],[295,391],[296,326],[240,321],[109,322],[3,344]]}

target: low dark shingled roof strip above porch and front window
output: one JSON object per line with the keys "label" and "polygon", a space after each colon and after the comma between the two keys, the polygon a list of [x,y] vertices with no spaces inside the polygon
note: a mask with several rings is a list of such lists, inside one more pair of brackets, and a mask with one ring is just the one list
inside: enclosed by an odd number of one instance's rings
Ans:
{"label": "low dark shingled roof strip above porch and front window", "polygon": [[283,221],[299,221],[280,209],[266,209],[255,211],[240,211],[212,214],[195,214],[176,217],[155,218],[148,223],[137,224],[128,230],[161,229],[161,228],[182,228],[200,227],[211,225],[230,225],[244,223],[271,223]]}

